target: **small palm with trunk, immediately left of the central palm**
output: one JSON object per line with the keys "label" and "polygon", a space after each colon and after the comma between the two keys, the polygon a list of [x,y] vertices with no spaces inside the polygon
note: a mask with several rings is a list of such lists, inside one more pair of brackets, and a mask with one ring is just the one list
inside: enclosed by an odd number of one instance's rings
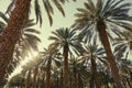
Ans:
{"label": "small palm with trunk, immediately left of the central palm", "polygon": [[46,68],[46,81],[45,81],[45,88],[51,88],[51,72],[52,69],[55,68],[59,68],[61,66],[61,54],[58,53],[58,51],[56,50],[56,46],[54,46],[54,44],[51,44],[48,46],[48,48],[44,50],[42,53],[42,58],[45,61],[45,63],[43,63],[43,65]]}

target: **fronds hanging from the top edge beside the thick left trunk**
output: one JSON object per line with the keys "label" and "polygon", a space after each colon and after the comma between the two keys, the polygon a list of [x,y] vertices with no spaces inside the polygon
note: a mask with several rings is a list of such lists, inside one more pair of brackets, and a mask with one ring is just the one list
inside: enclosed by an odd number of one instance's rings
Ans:
{"label": "fronds hanging from the top edge beside the thick left trunk", "polygon": [[[15,1],[12,0],[11,3],[9,4],[7,12],[6,13],[11,13],[13,8],[15,7]],[[76,0],[73,0],[76,1]],[[66,2],[69,2],[68,0],[42,0],[43,7],[47,13],[47,18],[50,20],[50,24],[53,24],[53,19],[52,14],[54,14],[54,7],[53,4],[57,8],[57,10],[65,16],[65,12],[63,9],[63,4]],[[52,3],[53,2],[53,3]],[[35,16],[36,16],[36,23],[40,22],[40,25],[42,25],[43,19],[42,19],[42,9],[38,0],[34,0],[34,11],[35,11]]]}

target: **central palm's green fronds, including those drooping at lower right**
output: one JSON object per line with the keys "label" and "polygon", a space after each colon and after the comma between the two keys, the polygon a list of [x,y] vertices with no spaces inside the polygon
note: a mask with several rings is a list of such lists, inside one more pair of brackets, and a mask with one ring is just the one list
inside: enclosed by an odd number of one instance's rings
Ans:
{"label": "central palm's green fronds, including those drooping at lower right", "polygon": [[50,36],[48,40],[52,40],[56,44],[57,48],[61,50],[65,44],[69,45],[69,55],[72,54],[82,54],[84,50],[78,40],[76,29],[58,29],[52,32],[53,36]]}

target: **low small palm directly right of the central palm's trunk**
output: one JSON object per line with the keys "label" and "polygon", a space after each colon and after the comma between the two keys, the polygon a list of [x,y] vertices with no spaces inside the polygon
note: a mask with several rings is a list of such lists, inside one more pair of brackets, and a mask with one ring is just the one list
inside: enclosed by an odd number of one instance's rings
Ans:
{"label": "low small palm directly right of the central palm's trunk", "polygon": [[69,88],[84,88],[90,75],[84,59],[72,57],[69,59]]}

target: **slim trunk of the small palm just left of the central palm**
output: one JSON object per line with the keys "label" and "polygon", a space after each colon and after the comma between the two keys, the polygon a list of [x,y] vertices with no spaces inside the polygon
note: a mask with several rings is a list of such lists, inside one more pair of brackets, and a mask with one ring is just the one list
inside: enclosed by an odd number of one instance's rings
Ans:
{"label": "slim trunk of the small palm just left of the central palm", "polygon": [[45,88],[51,88],[50,87],[50,80],[51,80],[51,63],[52,63],[52,57],[50,56],[48,61],[47,61],[47,67],[46,67],[46,84],[45,84]]}

